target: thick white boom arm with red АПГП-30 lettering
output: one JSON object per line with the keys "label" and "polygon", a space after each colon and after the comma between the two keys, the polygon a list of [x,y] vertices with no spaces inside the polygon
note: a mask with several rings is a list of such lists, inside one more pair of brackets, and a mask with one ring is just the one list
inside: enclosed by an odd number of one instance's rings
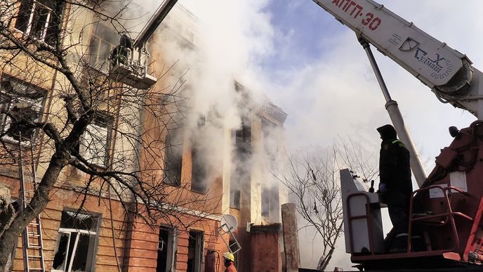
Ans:
{"label": "thick white boom arm with red \u0410\u041f\u0413\u041f-30 lettering", "polygon": [[313,1],[429,86],[440,101],[483,119],[483,74],[465,55],[375,1]]}

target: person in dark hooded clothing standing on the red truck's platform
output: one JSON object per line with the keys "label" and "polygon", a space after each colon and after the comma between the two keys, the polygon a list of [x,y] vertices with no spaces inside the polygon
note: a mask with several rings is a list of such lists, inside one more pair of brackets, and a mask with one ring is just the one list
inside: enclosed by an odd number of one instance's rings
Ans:
{"label": "person in dark hooded clothing standing on the red truck's platform", "polygon": [[381,199],[388,205],[392,222],[390,253],[406,252],[409,221],[409,201],[413,186],[409,151],[397,139],[396,130],[390,124],[377,129],[381,134],[379,157],[379,190]]}

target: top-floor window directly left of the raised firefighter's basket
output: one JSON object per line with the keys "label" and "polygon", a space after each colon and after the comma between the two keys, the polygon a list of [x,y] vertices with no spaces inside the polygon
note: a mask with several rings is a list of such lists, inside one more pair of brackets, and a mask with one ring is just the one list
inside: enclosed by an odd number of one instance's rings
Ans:
{"label": "top-floor window directly left of the raised firefighter's basket", "polygon": [[111,51],[118,44],[119,34],[117,32],[102,23],[96,25],[89,46],[89,65],[102,72],[107,72]]}

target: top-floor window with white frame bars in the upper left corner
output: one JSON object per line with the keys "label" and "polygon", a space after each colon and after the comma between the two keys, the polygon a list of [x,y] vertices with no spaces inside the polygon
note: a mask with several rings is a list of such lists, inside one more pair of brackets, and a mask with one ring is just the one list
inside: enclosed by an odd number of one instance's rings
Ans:
{"label": "top-floor window with white frame bars in the upper left corner", "polygon": [[[62,14],[60,14],[62,16]],[[55,45],[55,25],[58,20],[55,16],[55,1],[53,0],[22,0],[15,29],[24,32],[32,39],[45,41],[46,44]]]}

